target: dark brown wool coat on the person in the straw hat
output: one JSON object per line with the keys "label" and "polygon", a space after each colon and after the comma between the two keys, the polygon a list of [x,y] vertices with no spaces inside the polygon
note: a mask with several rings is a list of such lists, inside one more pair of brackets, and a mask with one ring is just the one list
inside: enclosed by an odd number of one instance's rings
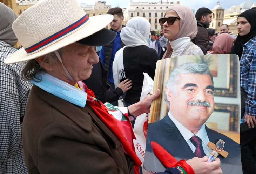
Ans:
{"label": "dark brown wool coat on the person in the straw hat", "polygon": [[88,105],[73,105],[33,86],[23,123],[29,173],[134,173],[120,141]]}

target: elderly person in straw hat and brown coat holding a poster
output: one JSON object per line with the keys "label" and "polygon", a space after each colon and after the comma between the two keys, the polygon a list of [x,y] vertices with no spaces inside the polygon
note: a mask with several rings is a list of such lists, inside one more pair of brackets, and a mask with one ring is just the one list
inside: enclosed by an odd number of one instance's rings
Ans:
{"label": "elderly person in straw hat and brown coat holding a poster", "polygon": [[[27,61],[22,77],[34,84],[23,126],[29,173],[134,173],[133,166],[141,165],[131,124],[121,127],[82,82],[99,61],[94,47],[116,36],[104,28],[112,20],[112,15],[89,18],[76,0],[41,0],[14,21],[23,48],[5,63]],[[159,90],[130,105],[128,115],[149,112],[158,95]],[[220,166],[188,163],[195,171]]]}

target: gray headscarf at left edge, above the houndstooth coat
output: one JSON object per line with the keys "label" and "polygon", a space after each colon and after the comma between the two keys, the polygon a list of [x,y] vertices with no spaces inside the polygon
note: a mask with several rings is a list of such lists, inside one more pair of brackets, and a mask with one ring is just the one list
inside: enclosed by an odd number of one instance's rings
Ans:
{"label": "gray headscarf at left edge, above the houndstooth coat", "polygon": [[18,41],[12,30],[12,23],[16,18],[13,10],[0,2],[0,40],[12,46]]}

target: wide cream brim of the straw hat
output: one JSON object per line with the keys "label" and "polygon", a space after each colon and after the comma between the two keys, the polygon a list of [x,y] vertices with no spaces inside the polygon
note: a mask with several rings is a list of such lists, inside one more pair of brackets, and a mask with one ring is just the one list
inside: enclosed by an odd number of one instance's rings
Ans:
{"label": "wide cream brim of the straw hat", "polygon": [[[5,59],[4,63],[11,64],[11,63],[17,63],[17,62],[22,62],[22,61],[35,59],[35,58],[38,58],[40,56],[51,53],[55,50],[58,50],[62,47],[65,47],[67,45],[73,44],[73,43],[75,43],[75,42],[77,42],[77,41],[79,41],[83,38],[86,38],[86,37],[89,38],[89,36],[94,35],[94,33],[95,33],[94,36],[96,36],[96,32],[105,28],[112,20],[113,20],[113,15],[92,16],[92,17],[89,18],[86,25],[83,25],[78,30],[74,31],[73,33],[71,33],[70,35],[68,35],[64,38],[61,38],[60,40],[56,41],[52,45],[44,47],[43,49],[39,50],[38,52],[35,52],[33,54],[30,54],[30,55],[27,54],[27,52],[25,51],[24,48],[20,48],[19,50],[17,50],[13,54],[8,55],[7,58]],[[101,32],[102,33],[107,32],[106,30],[102,30]],[[109,32],[108,32],[108,34],[109,34]],[[114,39],[113,38],[111,40],[111,37],[113,37],[113,34],[110,34],[110,36],[108,36],[108,34],[105,35],[105,36],[101,36],[101,38],[97,38],[98,41],[97,41],[97,43],[95,42],[95,44],[93,44],[93,46],[104,45],[109,40],[110,40],[109,42],[111,42]],[[107,37],[107,39],[105,39],[104,37]],[[101,39],[101,42],[99,41],[100,39]],[[94,40],[96,40],[96,39],[92,37],[91,40],[90,40],[91,43],[94,43]],[[86,41],[87,41],[87,44],[88,44],[89,39],[86,39]]]}

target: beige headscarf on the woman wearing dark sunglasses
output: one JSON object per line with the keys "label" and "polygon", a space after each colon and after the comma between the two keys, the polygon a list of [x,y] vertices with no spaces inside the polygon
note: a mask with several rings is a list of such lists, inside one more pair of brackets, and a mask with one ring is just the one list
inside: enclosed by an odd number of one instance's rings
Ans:
{"label": "beige headscarf on the woman wearing dark sunglasses", "polygon": [[[194,37],[196,37],[196,34],[197,34],[197,22],[196,22],[196,18],[194,16],[193,11],[187,6],[183,6],[183,5],[171,6],[171,8],[166,11],[166,13],[170,10],[175,11],[178,14],[178,16],[181,18],[181,20],[180,20],[180,31],[177,33],[177,35],[173,39],[169,41],[174,41],[176,39],[180,39],[183,37],[190,37],[190,39],[194,39]],[[164,17],[166,13],[164,14]],[[171,48],[171,45],[168,42],[167,50],[166,50],[166,53],[163,55],[163,59],[170,58],[172,52],[173,52],[173,49]]]}

